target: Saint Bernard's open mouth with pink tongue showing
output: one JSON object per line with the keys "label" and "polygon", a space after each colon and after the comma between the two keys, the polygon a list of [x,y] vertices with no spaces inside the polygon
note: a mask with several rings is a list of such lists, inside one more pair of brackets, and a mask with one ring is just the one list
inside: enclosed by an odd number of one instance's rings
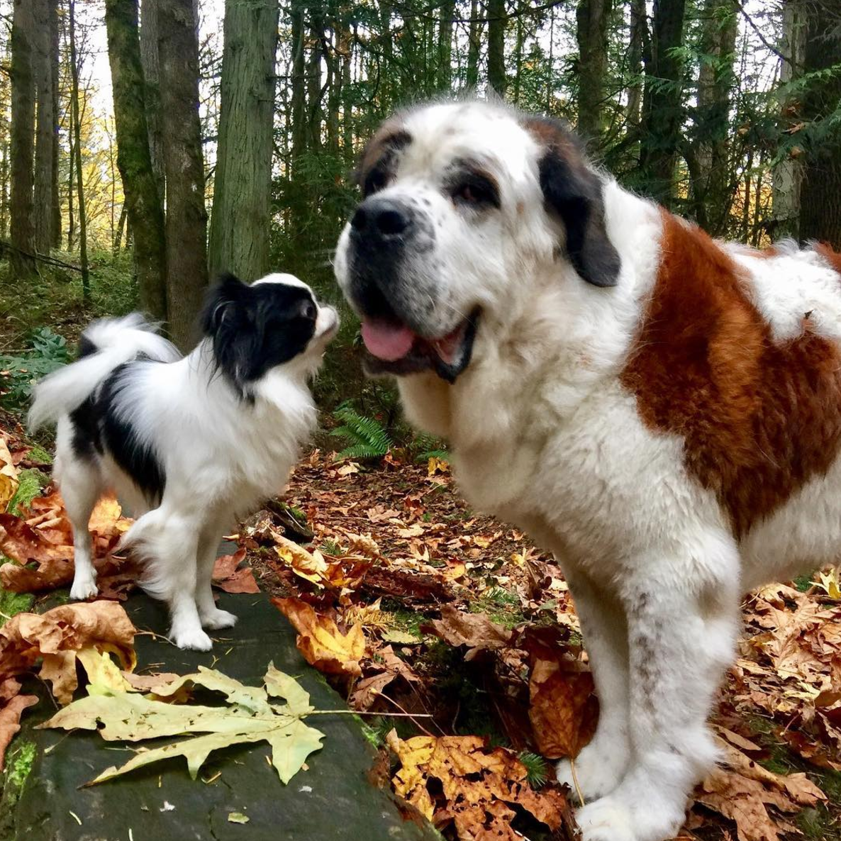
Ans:
{"label": "Saint Bernard's open mouth with pink tongue showing", "polygon": [[365,368],[369,374],[402,375],[434,371],[454,383],[468,367],[479,325],[479,309],[454,330],[437,339],[425,339],[396,319],[362,320],[362,341],[368,349]]}

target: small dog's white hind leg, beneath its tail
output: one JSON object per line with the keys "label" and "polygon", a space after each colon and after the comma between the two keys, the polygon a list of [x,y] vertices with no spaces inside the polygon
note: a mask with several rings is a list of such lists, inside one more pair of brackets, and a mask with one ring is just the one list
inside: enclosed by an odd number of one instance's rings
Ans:
{"label": "small dog's white hind leg, beneath its tail", "polygon": [[75,570],[70,597],[82,601],[97,595],[97,571],[93,567],[91,533],[87,523],[93,506],[103,491],[97,465],[66,454],[61,464],[61,496],[67,517],[73,527],[73,560]]}

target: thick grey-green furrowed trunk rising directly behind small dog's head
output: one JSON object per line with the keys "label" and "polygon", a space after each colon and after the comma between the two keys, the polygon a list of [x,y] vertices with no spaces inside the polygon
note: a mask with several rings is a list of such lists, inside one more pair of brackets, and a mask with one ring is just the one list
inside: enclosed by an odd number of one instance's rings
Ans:
{"label": "thick grey-green furrowed trunk rising directly behind small dog's head", "polygon": [[256,280],[268,270],[277,0],[227,0],[211,275]]}

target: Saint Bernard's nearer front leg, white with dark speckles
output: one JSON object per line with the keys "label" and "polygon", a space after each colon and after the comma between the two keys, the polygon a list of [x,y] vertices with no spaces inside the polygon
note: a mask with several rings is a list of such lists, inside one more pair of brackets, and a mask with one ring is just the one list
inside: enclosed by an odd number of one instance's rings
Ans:
{"label": "Saint Bernard's nearer front leg, white with dark speckles", "polygon": [[634,558],[622,584],[631,760],[610,794],[584,806],[584,841],[664,841],[717,750],[706,727],[738,632],[738,553],[721,534]]}

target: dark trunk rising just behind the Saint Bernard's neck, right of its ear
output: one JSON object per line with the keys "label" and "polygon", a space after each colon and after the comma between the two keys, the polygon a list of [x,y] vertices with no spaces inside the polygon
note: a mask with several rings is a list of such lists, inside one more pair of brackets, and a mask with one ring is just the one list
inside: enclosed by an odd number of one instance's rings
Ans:
{"label": "dark trunk rising just behind the Saint Bernard's neck, right of its ear", "polygon": [[642,187],[669,207],[683,120],[683,63],[675,50],[683,40],[685,0],[653,0],[651,49],[645,61],[640,176]]}

